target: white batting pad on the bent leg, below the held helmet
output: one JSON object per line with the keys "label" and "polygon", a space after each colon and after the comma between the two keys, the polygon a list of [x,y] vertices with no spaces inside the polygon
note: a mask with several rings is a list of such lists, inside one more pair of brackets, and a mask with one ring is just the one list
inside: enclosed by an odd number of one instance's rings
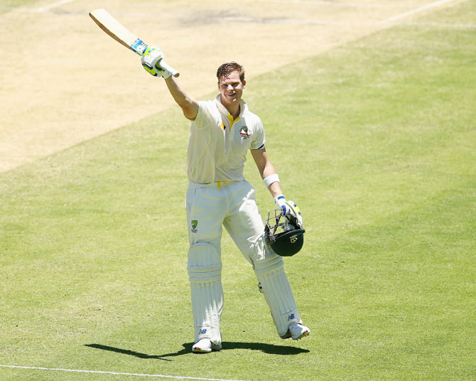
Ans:
{"label": "white batting pad on the bent leg, below the held helmet", "polygon": [[279,336],[286,336],[291,323],[302,323],[293,291],[284,272],[283,259],[266,248],[266,255],[254,262],[260,291],[271,310]]}

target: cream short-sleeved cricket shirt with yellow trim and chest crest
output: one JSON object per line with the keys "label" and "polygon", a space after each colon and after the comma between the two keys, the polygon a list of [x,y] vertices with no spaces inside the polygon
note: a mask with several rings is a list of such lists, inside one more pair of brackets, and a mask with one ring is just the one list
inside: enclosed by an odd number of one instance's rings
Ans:
{"label": "cream short-sleeved cricket shirt with yellow trim and chest crest", "polygon": [[261,119],[249,111],[244,100],[233,120],[220,97],[198,102],[198,114],[190,126],[187,172],[197,185],[244,180],[247,151],[260,149],[266,141]]}

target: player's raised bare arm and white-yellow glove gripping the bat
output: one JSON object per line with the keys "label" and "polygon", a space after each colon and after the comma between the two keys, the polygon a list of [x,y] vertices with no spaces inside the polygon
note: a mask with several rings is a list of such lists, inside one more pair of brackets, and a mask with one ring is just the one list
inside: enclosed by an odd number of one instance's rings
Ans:
{"label": "player's raised bare arm and white-yellow glove gripping the bat", "polygon": [[171,92],[173,99],[180,106],[185,117],[195,120],[198,114],[198,102],[193,97],[189,97],[175,80],[175,77],[161,67],[162,59],[162,50],[157,46],[150,46],[144,51],[141,63],[146,72],[154,77],[163,77],[166,80],[168,91]]}

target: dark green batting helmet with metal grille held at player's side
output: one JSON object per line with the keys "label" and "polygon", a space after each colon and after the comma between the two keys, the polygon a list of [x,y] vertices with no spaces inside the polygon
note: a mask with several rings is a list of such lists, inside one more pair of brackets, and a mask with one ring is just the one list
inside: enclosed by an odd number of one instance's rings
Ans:
{"label": "dark green batting helmet with metal grille held at player's side", "polygon": [[282,210],[271,210],[266,215],[264,233],[266,243],[281,257],[292,257],[303,247],[303,224],[295,215],[283,215]]}

